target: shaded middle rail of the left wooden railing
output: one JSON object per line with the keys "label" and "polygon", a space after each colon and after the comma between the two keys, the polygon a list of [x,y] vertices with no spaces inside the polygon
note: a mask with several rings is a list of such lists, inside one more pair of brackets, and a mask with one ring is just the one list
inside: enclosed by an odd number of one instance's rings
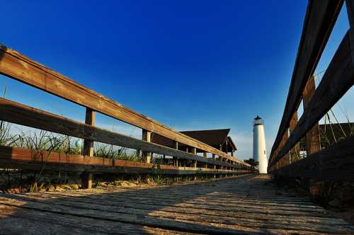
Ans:
{"label": "shaded middle rail of the left wooden railing", "polygon": [[98,127],[86,125],[65,117],[60,117],[59,115],[47,113],[13,101],[8,101],[4,98],[0,98],[0,120],[59,134],[67,134],[81,139],[89,139],[91,141],[102,142],[105,144],[113,144],[157,154],[165,154],[167,156],[176,156],[181,159],[198,160],[222,166],[225,164],[220,161],[205,159],[196,154],[185,153],[184,151],[171,149],[152,142],[146,142],[124,134],[102,130]]}

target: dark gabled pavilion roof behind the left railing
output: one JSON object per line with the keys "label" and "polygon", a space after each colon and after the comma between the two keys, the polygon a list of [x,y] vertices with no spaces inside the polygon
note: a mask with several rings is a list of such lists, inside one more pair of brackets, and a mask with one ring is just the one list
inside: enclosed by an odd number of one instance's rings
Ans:
{"label": "dark gabled pavilion roof behind the left railing", "polygon": [[[222,130],[192,130],[192,131],[183,131],[181,133],[192,137],[193,139],[198,139],[205,144],[208,144],[212,147],[219,149],[219,146],[224,144],[227,139],[227,135],[229,134],[230,129],[222,129]],[[231,139],[231,138],[230,138]],[[152,142],[155,144],[161,144],[166,147],[173,147],[173,141],[166,137],[163,137],[159,134],[153,134]],[[232,140],[230,141],[236,149],[236,146]],[[184,144],[179,144],[180,147],[185,146]]]}

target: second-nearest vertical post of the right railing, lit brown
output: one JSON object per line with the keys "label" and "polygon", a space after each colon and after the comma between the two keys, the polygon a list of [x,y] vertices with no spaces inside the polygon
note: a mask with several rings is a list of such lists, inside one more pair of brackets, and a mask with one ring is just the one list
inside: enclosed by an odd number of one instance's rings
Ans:
{"label": "second-nearest vertical post of the right railing, lit brown", "polygon": [[[316,91],[316,86],[314,84],[314,76],[312,76],[309,81],[307,81],[304,92],[302,93],[302,103],[304,104],[304,110],[307,109],[307,105],[309,104],[314,91]],[[319,122],[317,122],[314,127],[312,127],[306,134],[306,155],[310,156],[311,154],[320,151],[320,149],[321,142],[319,140]]]}

